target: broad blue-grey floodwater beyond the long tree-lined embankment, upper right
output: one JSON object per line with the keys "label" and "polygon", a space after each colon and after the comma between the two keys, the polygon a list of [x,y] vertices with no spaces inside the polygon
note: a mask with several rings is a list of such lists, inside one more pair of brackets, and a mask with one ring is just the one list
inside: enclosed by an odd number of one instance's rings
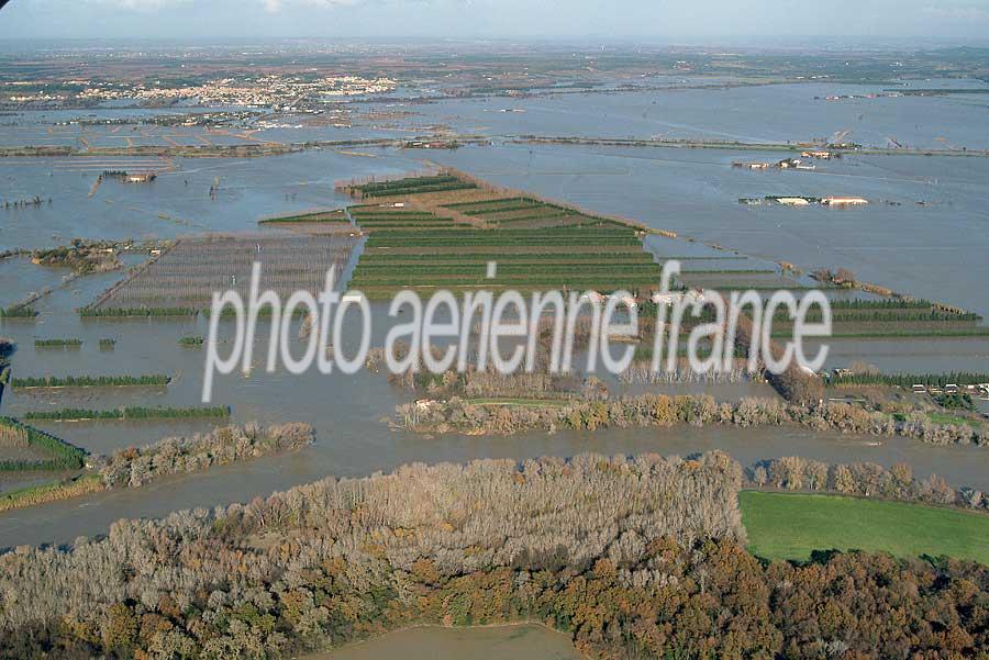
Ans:
{"label": "broad blue-grey floodwater beyond the long tree-lined embankment, upper right", "polygon": [[[892,137],[918,148],[986,148],[989,86],[968,82],[965,87],[985,93],[825,101],[827,96],[881,93],[893,86],[801,83],[443,100],[413,109],[434,122],[486,135],[786,143],[847,131],[845,141],[868,146],[886,146]],[[946,87],[957,83],[914,81],[897,90]]]}

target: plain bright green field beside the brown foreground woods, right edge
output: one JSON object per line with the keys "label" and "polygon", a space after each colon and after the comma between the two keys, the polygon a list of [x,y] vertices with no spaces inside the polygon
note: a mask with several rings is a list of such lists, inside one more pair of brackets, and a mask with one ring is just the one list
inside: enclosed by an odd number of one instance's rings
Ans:
{"label": "plain bright green field beside the brown foreground woods, right edge", "polygon": [[989,564],[987,515],[840,495],[743,491],[738,501],[757,557],[805,560],[812,550],[858,549]]}

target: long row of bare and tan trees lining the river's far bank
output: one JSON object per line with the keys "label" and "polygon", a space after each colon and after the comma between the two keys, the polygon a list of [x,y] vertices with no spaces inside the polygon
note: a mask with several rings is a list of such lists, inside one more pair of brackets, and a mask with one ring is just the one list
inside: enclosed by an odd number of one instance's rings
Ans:
{"label": "long row of bare and tan trees lining the river's far bank", "polygon": [[745,398],[718,403],[707,394],[642,394],[608,401],[574,401],[565,406],[498,406],[448,401],[419,401],[396,406],[403,428],[512,434],[526,429],[627,428],[675,424],[763,426],[798,424],[814,430],[905,436],[935,445],[989,445],[982,426],[936,424],[922,413],[890,415],[846,404],[787,404],[776,399]]}

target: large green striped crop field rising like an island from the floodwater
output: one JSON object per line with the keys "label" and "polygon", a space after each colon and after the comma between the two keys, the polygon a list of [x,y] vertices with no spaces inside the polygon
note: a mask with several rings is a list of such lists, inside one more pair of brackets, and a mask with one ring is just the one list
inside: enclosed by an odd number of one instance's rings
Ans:
{"label": "large green striped crop field rising like an island from the floodwater", "polygon": [[[453,175],[436,175],[346,190],[382,197],[460,184],[474,186]],[[648,289],[658,282],[660,267],[643,250],[638,227],[525,197],[457,202],[458,198],[463,195],[433,203],[451,214],[476,219],[474,224],[444,217],[442,210],[433,213],[418,202],[408,208],[351,206],[347,212],[368,238],[349,287],[377,300],[407,287],[421,293],[437,288],[454,293],[507,288],[610,292]],[[501,227],[502,221],[512,224]],[[490,279],[489,261],[499,262],[497,277]]]}

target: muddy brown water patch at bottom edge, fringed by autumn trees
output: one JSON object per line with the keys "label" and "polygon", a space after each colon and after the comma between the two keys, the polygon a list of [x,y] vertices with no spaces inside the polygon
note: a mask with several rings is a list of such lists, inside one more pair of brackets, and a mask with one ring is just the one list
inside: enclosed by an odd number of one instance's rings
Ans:
{"label": "muddy brown water patch at bottom edge, fringed by autumn trees", "polygon": [[563,633],[537,625],[424,626],[389,633],[303,660],[580,660]]}

